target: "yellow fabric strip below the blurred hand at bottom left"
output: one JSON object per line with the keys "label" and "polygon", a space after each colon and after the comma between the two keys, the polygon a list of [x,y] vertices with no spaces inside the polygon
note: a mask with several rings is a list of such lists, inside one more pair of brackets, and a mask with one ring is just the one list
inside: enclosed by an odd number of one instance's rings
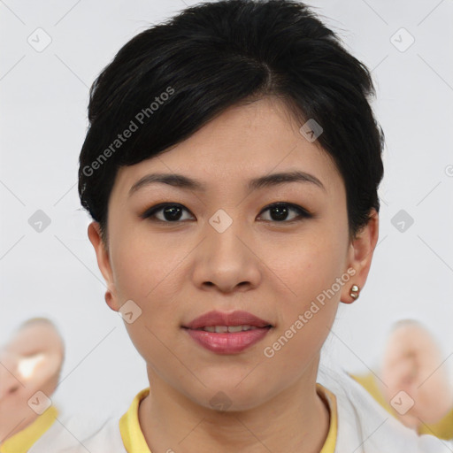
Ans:
{"label": "yellow fabric strip below the blurred hand at bottom left", "polygon": [[27,453],[32,445],[44,434],[58,416],[58,410],[55,406],[43,412],[33,423],[26,428],[12,435],[0,444],[0,453]]}

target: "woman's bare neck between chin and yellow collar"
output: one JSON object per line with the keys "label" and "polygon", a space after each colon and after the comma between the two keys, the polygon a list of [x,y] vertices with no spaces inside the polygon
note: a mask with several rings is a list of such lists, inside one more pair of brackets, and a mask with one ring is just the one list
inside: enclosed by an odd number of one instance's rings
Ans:
{"label": "woman's bare neck between chin and yellow collar", "polygon": [[151,451],[318,453],[329,411],[316,392],[314,369],[273,398],[244,411],[215,411],[195,403],[148,370],[150,395],[139,406]]}

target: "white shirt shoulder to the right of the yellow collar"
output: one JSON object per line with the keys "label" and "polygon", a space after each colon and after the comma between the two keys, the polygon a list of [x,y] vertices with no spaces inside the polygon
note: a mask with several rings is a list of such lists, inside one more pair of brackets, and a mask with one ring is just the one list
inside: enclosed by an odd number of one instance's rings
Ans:
{"label": "white shirt shoulder to the right of the yellow collar", "polygon": [[336,397],[338,433],[335,452],[451,453],[453,443],[418,435],[385,411],[356,380],[341,369],[320,366],[318,381]]}

